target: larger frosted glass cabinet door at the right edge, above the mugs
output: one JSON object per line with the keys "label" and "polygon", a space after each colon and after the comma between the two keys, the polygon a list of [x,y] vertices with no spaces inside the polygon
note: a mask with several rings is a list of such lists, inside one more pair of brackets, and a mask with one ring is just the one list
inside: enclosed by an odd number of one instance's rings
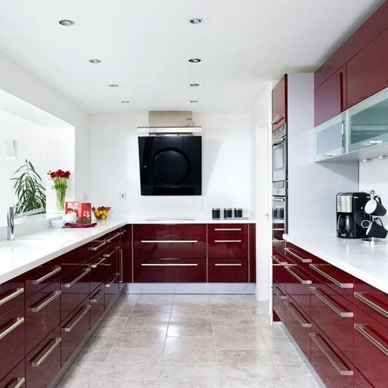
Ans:
{"label": "larger frosted glass cabinet door at the right edge, above the mugs", "polygon": [[388,143],[388,88],[348,109],[348,152]]}

